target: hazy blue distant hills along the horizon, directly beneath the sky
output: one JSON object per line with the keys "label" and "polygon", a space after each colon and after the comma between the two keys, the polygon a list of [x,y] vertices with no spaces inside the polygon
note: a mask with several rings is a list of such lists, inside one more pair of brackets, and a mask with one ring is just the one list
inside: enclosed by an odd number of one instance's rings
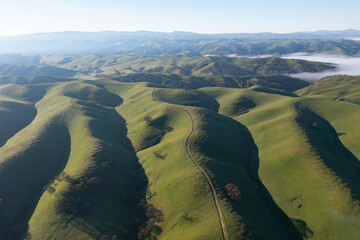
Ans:
{"label": "hazy blue distant hills along the horizon, directly beneath the sky", "polygon": [[[290,34],[189,32],[57,32],[0,37],[0,53],[88,55],[258,55],[326,52],[358,55],[360,31],[318,31]],[[292,40],[297,39],[297,40]]]}

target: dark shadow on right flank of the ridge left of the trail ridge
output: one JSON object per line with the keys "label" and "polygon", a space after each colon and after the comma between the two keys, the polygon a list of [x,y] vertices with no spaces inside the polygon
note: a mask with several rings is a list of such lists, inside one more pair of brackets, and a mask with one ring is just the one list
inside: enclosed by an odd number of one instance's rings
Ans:
{"label": "dark shadow on right flank of the ridge left of the trail ridge", "polygon": [[[127,137],[126,121],[113,108],[82,100],[74,104],[88,117],[86,128],[99,146],[91,155],[91,169],[75,179],[64,195],[71,207],[61,209],[90,236],[135,239],[146,221],[138,203],[146,199],[148,179]],[[87,187],[86,181],[94,178],[99,179],[98,186]]]}

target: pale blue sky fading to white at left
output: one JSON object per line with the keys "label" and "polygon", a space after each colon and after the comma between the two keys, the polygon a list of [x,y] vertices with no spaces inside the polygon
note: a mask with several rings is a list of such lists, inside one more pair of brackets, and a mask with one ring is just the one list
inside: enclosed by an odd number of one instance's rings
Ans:
{"label": "pale blue sky fading to white at left", "polygon": [[359,0],[0,0],[0,35],[55,31],[360,29]]}

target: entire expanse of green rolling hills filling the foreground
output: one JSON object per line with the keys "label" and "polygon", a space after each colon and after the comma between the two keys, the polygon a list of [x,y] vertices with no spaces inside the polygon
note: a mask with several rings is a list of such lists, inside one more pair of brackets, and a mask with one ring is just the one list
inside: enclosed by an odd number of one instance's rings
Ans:
{"label": "entire expanse of green rolling hills filling the foreground", "polygon": [[359,77],[308,86],[263,76],[307,62],[229,61],[1,77],[0,239],[356,239]]}

